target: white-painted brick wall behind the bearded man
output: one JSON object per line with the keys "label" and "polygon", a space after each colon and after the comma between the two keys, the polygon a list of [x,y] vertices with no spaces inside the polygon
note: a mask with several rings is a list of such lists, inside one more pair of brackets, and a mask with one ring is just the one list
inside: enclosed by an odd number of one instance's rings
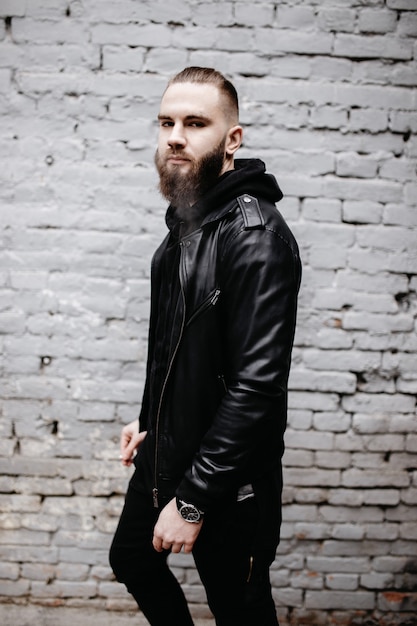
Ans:
{"label": "white-painted brick wall behind the bearded man", "polygon": [[0,0],[1,600],[133,606],[107,551],[165,232],[154,119],[200,64],[304,263],[280,622],[415,623],[416,36],[416,0]]}

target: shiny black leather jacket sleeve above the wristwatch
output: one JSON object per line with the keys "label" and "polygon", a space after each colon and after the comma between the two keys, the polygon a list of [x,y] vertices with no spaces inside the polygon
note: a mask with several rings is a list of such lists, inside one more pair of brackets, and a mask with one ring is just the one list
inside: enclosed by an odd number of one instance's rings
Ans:
{"label": "shiny black leather jacket sleeve above the wristwatch", "polygon": [[283,452],[300,261],[293,239],[240,229],[220,266],[227,392],[177,495],[202,510]]}

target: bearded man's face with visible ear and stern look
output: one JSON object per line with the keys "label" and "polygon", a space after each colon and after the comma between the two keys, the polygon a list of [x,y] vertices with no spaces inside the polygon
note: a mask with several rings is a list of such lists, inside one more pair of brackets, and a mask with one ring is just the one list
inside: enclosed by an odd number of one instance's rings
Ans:
{"label": "bearded man's face with visible ear and stern look", "polygon": [[221,174],[233,169],[242,129],[226,110],[214,85],[174,83],[166,90],[155,163],[161,192],[174,206],[194,204]]}

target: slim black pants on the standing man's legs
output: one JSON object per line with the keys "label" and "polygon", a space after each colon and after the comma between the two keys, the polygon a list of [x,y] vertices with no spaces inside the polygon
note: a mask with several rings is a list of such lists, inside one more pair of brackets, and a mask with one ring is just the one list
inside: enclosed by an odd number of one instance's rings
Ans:
{"label": "slim black pants on the standing man's legs", "polygon": [[[156,552],[153,528],[159,510],[132,486],[110,549],[116,578],[126,585],[152,626],[192,626],[184,593]],[[233,502],[205,516],[193,556],[217,626],[277,626],[269,566],[275,550],[253,554],[258,530],[255,498]]]}

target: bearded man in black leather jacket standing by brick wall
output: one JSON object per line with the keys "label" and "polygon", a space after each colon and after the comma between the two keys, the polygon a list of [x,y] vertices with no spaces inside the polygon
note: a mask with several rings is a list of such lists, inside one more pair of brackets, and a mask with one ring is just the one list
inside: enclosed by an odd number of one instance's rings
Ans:
{"label": "bearded man in black leather jacket standing by brick wall", "polygon": [[[153,626],[193,624],[170,552],[192,552],[217,626],[278,624],[269,567],[300,261],[282,193],[242,142],[233,85],[186,68],[159,112],[169,233],[151,272],[147,378],[122,431],[136,471],[110,560]],[[134,460],[133,460],[134,459]]]}

